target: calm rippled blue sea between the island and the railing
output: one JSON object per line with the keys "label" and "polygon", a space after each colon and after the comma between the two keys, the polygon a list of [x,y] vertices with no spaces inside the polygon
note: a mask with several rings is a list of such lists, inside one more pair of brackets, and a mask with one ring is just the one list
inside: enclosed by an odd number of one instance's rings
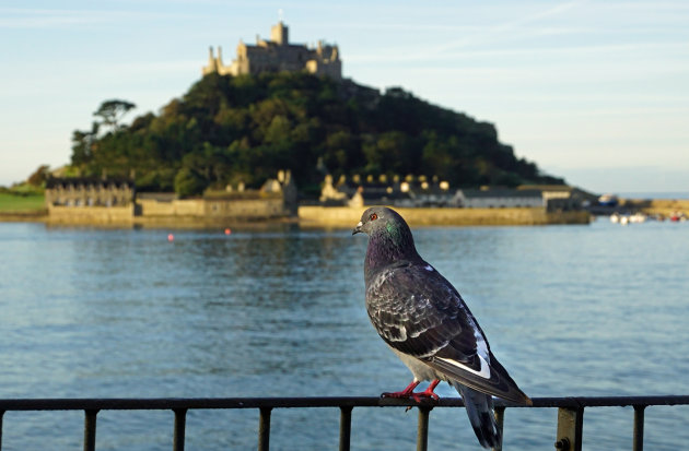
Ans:
{"label": "calm rippled blue sea between the island and the railing", "polygon": [[[376,396],[410,373],[363,306],[364,236],[0,224],[0,397]],[[167,241],[173,232],[175,239]],[[532,396],[689,394],[689,223],[414,229]],[[454,396],[442,384],[439,393]],[[591,408],[584,449],[631,449],[631,408]],[[3,450],[80,449],[83,413],[4,414]],[[339,411],[277,410],[276,450],[337,449]],[[513,408],[507,450],[551,450],[556,410]],[[167,450],[170,412],[102,412],[98,450]],[[689,407],[646,410],[649,450]],[[190,411],[188,450],[256,447],[255,411]],[[416,411],[355,408],[352,449],[413,450]],[[431,450],[480,449],[463,410]]]}

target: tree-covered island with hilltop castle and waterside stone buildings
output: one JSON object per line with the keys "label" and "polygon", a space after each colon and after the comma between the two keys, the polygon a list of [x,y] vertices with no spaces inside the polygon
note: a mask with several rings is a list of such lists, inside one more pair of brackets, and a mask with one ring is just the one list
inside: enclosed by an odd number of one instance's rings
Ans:
{"label": "tree-covered island with hilltop castle and waterside stone buildings", "polygon": [[122,124],[135,108],[105,100],[71,163],[30,177],[50,221],[314,222],[376,203],[442,207],[441,224],[583,223],[595,199],[515,156],[492,123],[342,78],[336,45],[291,44],[282,21],[230,66],[211,48],[201,80]]}

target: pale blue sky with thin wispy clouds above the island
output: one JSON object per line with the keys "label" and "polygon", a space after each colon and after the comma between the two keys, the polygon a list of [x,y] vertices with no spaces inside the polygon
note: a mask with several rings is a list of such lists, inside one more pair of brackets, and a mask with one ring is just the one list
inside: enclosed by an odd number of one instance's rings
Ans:
{"label": "pale blue sky with thin wispy clouds above the island", "polygon": [[70,162],[112,98],[157,114],[209,46],[337,44],[343,76],[493,123],[593,192],[689,192],[689,2],[0,0],[0,186]]}

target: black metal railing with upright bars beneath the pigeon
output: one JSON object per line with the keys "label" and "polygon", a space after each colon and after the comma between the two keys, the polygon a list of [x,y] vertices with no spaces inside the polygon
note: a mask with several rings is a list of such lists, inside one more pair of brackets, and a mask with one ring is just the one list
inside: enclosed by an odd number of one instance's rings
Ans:
{"label": "black metal railing with upright bars beneath the pigeon", "polygon": [[[647,406],[688,405],[689,395],[675,396],[596,396],[596,397],[536,397],[533,407],[558,408],[558,429],[554,448],[562,451],[581,451],[584,410],[587,407],[634,408],[632,450],[643,450],[644,410]],[[197,399],[17,399],[0,400],[0,451],[2,450],[2,418],[11,411],[83,411],[85,451],[95,450],[96,422],[101,411],[172,411],[174,412],[173,450],[183,451],[186,414],[189,410],[254,408],[259,411],[258,450],[270,448],[270,414],[273,408],[340,408],[340,451],[350,449],[351,418],[354,407],[418,407],[419,424],[417,450],[428,447],[429,416],[435,407],[462,407],[458,397],[440,401],[381,397],[197,397]],[[495,417],[502,429],[505,408],[517,408],[499,400]],[[529,408],[533,408],[529,407]],[[518,407],[526,408],[526,407]]]}

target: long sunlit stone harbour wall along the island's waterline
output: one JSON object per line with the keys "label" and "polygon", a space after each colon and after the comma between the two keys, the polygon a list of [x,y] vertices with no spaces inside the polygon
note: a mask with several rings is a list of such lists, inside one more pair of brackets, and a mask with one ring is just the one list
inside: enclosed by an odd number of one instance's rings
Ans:
{"label": "long sunlit stone harbour wall along the island's waterline", "polygon": [[[548,225],[588,224],[585,211],[546,212],[544,209],[431,209],[399,207],[412,226],[470,225]],[[364,207],[317,206],[299,207],[297,221],[304,227],[353,227]],[[130,206],[75,207],[51,206],[50,224],[112,226],[180,226],[203,227],[227,222],[259,222],[288,218],[279,199],[235,200],[213,202],[173,200],[171,202],[137,201]]]}

